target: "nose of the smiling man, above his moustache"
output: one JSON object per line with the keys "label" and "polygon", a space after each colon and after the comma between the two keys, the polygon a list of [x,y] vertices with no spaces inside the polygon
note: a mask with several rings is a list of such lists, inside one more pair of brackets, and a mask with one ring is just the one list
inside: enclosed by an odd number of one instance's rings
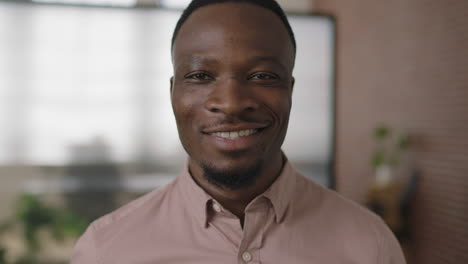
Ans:
{"label": "nose of the smiling man, above his moustache", "polygon": [[213,87],[205,108],[212,113],[236,115],[255,111],[258,109],[258,102],[253,92],[242,81],[229,79],[218,81]]}

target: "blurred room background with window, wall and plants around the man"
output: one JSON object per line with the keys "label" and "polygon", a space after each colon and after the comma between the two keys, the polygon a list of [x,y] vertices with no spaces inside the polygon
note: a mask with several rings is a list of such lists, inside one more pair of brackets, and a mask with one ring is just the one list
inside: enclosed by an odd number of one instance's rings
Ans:
{"label": "blurred room background with window, wall and plants around the man", "polygon": [[[68,263],[184,166],[169,100],[186,0],[0,1],[0,263]],[[283,0],[284,151],[381,215],[408,263],[468,263],[468,2]]]}

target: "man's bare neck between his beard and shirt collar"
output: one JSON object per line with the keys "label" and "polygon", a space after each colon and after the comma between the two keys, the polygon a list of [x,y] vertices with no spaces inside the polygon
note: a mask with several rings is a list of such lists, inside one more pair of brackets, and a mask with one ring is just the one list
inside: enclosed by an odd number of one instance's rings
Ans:
{"label": "man's bare neck between his beard and shirt collar", "polygon": [[272,162],[268,162],[262,168],[254,184],[235,190],[223,188],[209,182],[203,175],[203,169],[191,159],[189,161],[189,169],[195,182],[224,208],[239,217],[243,225],[244,211],[247,205],[270,187],[283,168],[284,161],[281,152],[271,160]]}

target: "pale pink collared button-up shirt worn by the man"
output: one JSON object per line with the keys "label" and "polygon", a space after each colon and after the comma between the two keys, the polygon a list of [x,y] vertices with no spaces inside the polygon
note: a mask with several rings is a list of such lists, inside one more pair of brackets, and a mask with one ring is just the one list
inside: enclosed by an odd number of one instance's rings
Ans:
{"label": "pale pink collared button-up shirt worn by the man", "polygon": [[380,218],[300,175],[281,175],[239,219],[201,189],[187,169],[92,223],[72,264],[401,264]]}

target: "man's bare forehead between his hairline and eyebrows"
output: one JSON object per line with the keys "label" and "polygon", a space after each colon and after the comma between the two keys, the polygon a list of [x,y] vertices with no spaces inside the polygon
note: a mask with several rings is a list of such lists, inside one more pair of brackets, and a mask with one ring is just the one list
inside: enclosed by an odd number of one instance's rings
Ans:
{"label": "man's bare forehead between his hairline and eyebrows", "polygon": [[190,15],[174,42],[174,66],[200,56],[274,57],[285,67],[294,64],[283,22],[272,11],[249,3],[212,4]]}

